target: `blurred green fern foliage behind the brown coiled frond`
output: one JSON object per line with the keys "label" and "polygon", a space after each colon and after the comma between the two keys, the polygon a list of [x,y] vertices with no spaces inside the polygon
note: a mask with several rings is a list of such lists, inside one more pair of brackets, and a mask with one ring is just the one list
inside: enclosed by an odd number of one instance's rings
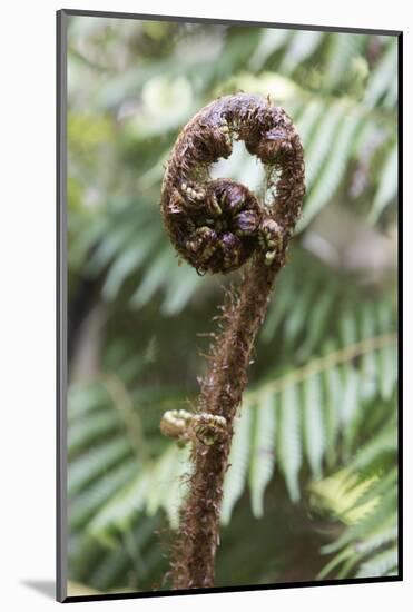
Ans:
{"label": "blurred green fern foliage behind the brown coiled frond", "polygon": [[[187,450],[159,419],[197,393],[197,334],[228,279],[178,265],[163,164],[195,111],[238,90],[294,119],[307,196],[237,423],[217,585],[397,572],[396,46],[70,18],[71,593],[169,585]],[[214,176],[259,189],[263,174],[238,145]]]}

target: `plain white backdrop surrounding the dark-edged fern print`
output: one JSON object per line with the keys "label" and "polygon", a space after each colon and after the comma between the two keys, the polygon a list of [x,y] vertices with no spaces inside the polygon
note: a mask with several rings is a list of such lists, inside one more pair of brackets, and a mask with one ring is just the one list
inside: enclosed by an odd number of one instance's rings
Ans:
{"label": "plain white backdrop surrounding the dark-edged fern print", "polygon": [[[4,3],[6,4],[6,3]],[[49,610],[55,579],[55,69],[56,16],[60,8],[237,18],[404,30],[405,134],[412,140],[412,37],[410,2],[346,0],[126,1],[21,0],[1,8],[0,33],[0,605]],[[6,135],[6,139],[4,139]],[[263,610],[412,609],[412,147],[405,146],[405,582],[323,586],[77,603],[76,610],[191,610],[210,606]],[[410,320],[409,320],[410,319]],[[6,340],[6,342],[4,342]],[[410,376],[409,376],[410,374]],[[46,595],[31,583],[43,585]]]}

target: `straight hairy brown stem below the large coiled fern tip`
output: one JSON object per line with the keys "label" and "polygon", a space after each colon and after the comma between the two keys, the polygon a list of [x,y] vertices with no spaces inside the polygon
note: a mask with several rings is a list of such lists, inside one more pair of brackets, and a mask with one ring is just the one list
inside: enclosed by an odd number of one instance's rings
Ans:
{"label": "straight hairy brown stem below the large coiled fern tip", "polygon": [[[245,273],[237,298],[230,294],[223,319],[226,327],[213,345],[197,411],[224,415],[226,435],[209,447],[193,446],[190,488],[180,512],[174,550],[174,586],[213,586],[215,554],[219,544],[223,484],[234,433],[234,421],[247,385],[247,368],[256,334],[266,313],[276,270],[253,263]],[[228,298],[228,295],[227,295]]]}

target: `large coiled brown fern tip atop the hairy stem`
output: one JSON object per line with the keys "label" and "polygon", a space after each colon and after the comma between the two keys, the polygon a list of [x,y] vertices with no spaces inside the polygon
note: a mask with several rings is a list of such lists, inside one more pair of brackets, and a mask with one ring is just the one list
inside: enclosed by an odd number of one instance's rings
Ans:
{"label": "large coiled brown fern tip atop the hairy stem", "polygon": [[[209,167],[243,140],[266,171],[263,201],[244,185],[212,180]],[[301,214],[304,161],[299,137],[286,112],[269,99],[224,96],[181,130],[167,164],[161,213],[178,255],[199,274],[229,273],[255,254],[282,265]]]}

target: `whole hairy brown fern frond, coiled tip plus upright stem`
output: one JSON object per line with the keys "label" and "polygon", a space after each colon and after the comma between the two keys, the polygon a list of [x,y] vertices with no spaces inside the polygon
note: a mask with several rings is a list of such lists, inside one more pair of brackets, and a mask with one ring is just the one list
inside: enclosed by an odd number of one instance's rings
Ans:
{"label": "whole hairy brown fern frond, coiled tip plus upright stem", "polygon": [[[266,199],[229,179],[209,179],[209,166],[243,140],[266,169]],[[247,385],[255,338],[301,214],[304,160],[285,111],[268,99],[225,96],[183,129],[168,161],[161,193],[165,227],[179,256],[199,274],[229,273],[245,264],[238,290],[227,290],[196,413],[226,419],[205,444],[195,438],[188,495],[173,550],[175,589],[214,585],[219,514],[234,419]]]}

